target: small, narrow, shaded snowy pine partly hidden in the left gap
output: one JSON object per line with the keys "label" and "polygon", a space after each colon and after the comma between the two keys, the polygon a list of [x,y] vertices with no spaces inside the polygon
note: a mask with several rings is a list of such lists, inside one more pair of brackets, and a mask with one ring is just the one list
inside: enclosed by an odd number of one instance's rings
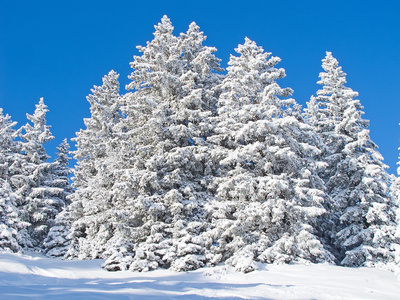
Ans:
{"label": "small, narrow, shaded snowy pine partly hidden in the left gap", "polygon": [[69,167],[69,144],[67,139],[64,139],[62,143],[57,147],[56,152],[57,158],[53,167],[53,185],[63,190],[60,198],[64,201],[65,206],[62,211],[57,215],[54,226],[51,227],[47,238],[44,241],[44,251],[47,256],[60,257],[64,256],[67,252],[70,239],[68,234],[71,228],[71,219],[69,214],[69,199],[68,196],[72,194],[72,186],[69,181],[69,176],[72,173]]}

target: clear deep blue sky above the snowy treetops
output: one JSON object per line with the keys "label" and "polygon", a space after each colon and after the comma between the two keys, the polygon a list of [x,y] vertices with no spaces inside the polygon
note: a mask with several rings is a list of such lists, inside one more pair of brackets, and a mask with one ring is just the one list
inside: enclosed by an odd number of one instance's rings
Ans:
{"label": "clear deep blue sky above the snowy treetops", "polygon": [[282,59],[282,87],[305,105],[332,51],[360,93],[372,139],[394,173],[400,146],[400,1],[35,1],[0,0],[0,107],[25,124],[44,97],[55,147],[84,128],[86,96],[111,69],[124,93],[137,45],[166,14],[175,34],[195,21],[226,67],[247,36]]}

